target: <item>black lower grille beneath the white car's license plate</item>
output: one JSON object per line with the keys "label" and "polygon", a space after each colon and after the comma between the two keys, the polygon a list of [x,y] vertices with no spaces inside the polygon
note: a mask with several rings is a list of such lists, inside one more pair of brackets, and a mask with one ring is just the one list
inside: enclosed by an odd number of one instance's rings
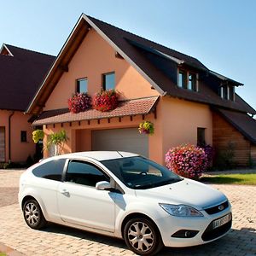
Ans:
{"label": "black lower grille beneath the white car's license plate", "polygon": [[218,238],[219,236],[224,235],[226,232],[228,232],[232,226],[232,218],[230,221],[222,226],[219,226],[216,229],[212,229],[212,224],[214,220],[211,222],[211,224],[208,225],[207,230],[202,234],[201,239],[203,241],[210,241],[212,239]]}

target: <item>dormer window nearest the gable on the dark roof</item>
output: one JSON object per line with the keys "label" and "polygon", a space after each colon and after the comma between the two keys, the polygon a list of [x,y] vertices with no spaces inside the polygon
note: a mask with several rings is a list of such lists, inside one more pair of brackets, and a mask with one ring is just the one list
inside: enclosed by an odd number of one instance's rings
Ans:
{"label": "dormer window nearest the gable on the dark roof", "polygon": [[177,76],[177,86],[188,90],[198,91],[197,74],[180,69]]}

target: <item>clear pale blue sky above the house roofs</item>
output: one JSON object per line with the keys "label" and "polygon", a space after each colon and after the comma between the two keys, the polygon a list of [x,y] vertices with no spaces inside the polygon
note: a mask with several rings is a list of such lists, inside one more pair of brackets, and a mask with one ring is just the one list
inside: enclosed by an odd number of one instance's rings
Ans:
{"label": "clear pale blue sky above the house roofs", "polygon": [[199,59],[256,109],[254,0],[0,0],[0,45],[58,55],[84,13]]}

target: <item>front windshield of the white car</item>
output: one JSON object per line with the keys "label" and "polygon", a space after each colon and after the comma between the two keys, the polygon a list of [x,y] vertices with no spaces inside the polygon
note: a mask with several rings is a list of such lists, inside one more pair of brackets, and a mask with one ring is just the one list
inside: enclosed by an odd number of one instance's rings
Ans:
{"label": "front windshield of the white car", "polygon": [[141,156],[102,160],[102,164],[131,189],[150,189],[183,180],[166,167]]}

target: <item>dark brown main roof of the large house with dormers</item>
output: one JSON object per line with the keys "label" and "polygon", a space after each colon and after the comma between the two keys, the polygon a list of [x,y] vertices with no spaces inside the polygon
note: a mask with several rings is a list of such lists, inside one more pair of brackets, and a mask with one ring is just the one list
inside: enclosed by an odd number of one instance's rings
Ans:
{"label": "dark brown main roof of the large house with dormers", "polygon": [[[251,106],[237,95],[235,102],[222,99],[216,91],[212,90],[210,84],[205,83],[204,78],[207,76],[218,78],[218,84],[214,85],[217,90],[223,82],[228,81],[236,86],[241,85],[241,83],[213,73],[194,57],[166,48],[131,32],[125,32],[118,27],[84,14],[81,15],[73,32],[67,38],[67,42],[55,61],[55,65],[48,73],[47,78],[44,79],[37,95],[27,109],[27,113],[40,113],[43,110],[45,102],[48,100],[52,90],[54,90],[62,73],[67,72],[69,62],[73,59],[73,55],[75,55],[84,37],[86,37],[91,29],[95,29],[161,96],[168,95],[192,102],[201,102],[211,106],[239,110],[244,113],[256,113]],[[147,55],[145,55],[145,50],[148,52]],[[185,69],[189,67],[196,71],[196,75],[197,73],[200,74],[198,77],[201,84],[198,91],[184,90],[177,86],[177,79],[175,79],[177,67]],[[170,68],[174,71],[172,75],[170,75]]]}

